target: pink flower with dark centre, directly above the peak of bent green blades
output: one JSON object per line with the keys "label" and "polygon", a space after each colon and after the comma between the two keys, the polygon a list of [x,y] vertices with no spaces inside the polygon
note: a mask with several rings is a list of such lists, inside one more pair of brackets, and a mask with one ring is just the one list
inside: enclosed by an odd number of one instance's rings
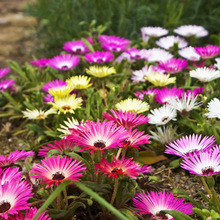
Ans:
{"label": "pink flower with dark centre, directly above the peak of bent green blades", "polygon": [[42,179],[41,182],[46,182],[48,187],[53,183],[58,185],[65,180],[79,181],[78,177],[83,175],[83,171],[86,169],[81,161],[73,160],[72,157],[50,157],[41,160],[42,164],[35,164],[30,173],[33,178]]}

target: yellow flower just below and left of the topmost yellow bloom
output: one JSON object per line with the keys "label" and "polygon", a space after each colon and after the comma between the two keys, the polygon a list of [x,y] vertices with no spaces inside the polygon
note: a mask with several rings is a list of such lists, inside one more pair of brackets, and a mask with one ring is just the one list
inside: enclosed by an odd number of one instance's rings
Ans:
{"label": "yellow flower just below and left of the topmost yellow bloom", "polygon": [[91,78],[88,76],[73,76],[66,80],[69,86],[72,86],[74,89],[86,89],[92,85],[89,84]]}

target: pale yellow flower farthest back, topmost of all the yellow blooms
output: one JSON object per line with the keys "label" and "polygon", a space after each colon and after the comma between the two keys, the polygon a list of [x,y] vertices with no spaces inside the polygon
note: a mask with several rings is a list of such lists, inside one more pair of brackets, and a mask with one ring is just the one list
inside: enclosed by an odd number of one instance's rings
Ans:
{"label": "pale yellow flower farthest back, topmost of all the yellow blooms", "polygon": [[86,72],[89,75],[93,75],[98,78],[103,78],[116,73],[116,70],[114,67],[90,66],[89,69],[86,69]]}

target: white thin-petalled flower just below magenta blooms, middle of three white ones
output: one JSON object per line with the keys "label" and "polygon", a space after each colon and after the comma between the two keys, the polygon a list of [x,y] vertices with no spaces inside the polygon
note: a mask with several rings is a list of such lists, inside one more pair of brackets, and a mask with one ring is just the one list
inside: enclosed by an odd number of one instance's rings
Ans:
{"label": "white thin-petalled flower just below magenta blooms, middle of three white ones", "polygon": [[202,102],[197,102],[198,95],[184,93],[182,97],[172,97],[167,101],[168,105],[176,109],[179,112],[190,112],[193,109],[202,105]]}

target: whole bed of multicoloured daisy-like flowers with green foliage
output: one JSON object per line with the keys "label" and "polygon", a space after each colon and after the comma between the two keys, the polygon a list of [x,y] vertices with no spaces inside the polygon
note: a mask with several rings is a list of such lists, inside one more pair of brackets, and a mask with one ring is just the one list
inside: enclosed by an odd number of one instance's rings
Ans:
{"label": "whole bed of multicoloured daisy-like flowers with green foliage", "polygon": [[[97,28],[0,70],[0,116],[25,136],[0,156],[2,219],[220,218],[220,46],[198,45],[199,25],[140,33]],[[199,199],[156,187],[163,154],[203,185]]]}

